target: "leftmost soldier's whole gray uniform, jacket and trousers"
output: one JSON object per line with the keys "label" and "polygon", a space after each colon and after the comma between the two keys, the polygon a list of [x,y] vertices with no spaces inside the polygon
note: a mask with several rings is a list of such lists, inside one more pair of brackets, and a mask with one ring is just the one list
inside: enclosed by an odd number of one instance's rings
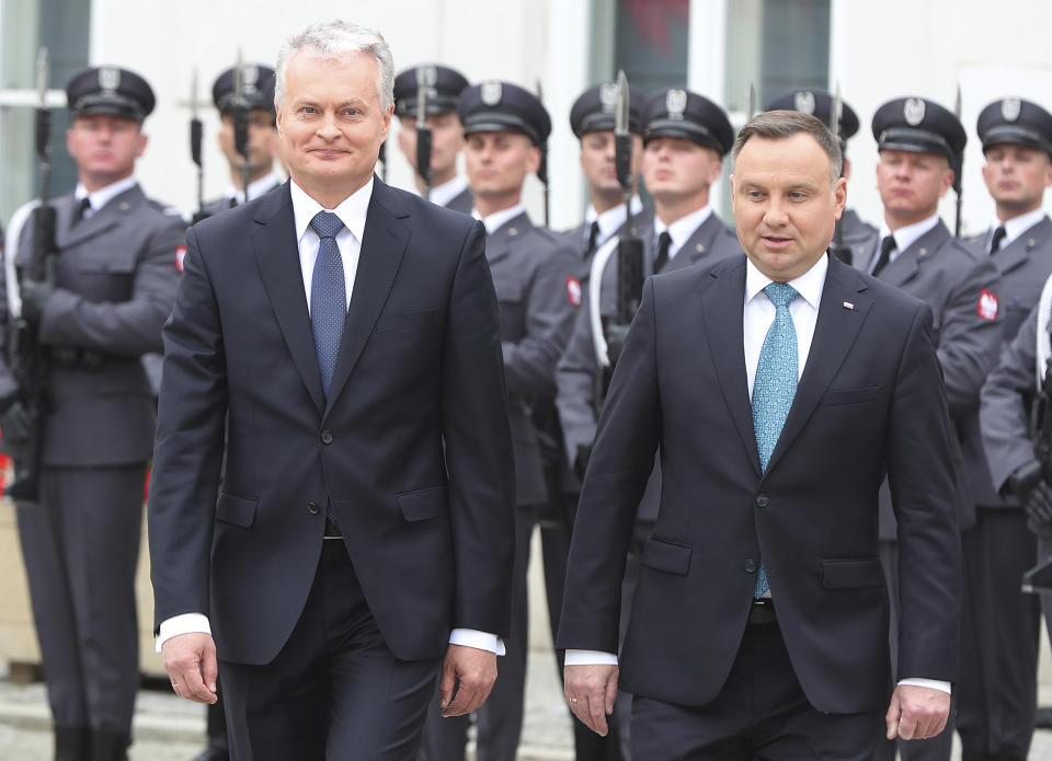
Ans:
{"label": "leftmost soldier's whole gray uniform, jacket and trousers", "polygon": [[[50,412],[39,507],[19,509],[19,534],[55,723],[126,735],[139,682],[134,578],[155,426],[140,357],[161,349],[185,226],[138,186],[76,223],[72,196],[54,205],[56,290],[39,323],[54,349]],[[32,244],[27,224],[20,269]]]}

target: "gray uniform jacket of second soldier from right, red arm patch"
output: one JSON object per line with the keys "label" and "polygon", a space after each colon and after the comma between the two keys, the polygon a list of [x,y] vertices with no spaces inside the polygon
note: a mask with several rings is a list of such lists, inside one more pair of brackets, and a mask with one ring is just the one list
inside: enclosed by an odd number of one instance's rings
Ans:
{"label": "gray uniform jacket of second soldier from right, red arm patch", "polygon": [[[856,257],[862,270],[877,255],[877,233]],[[957,506],[961,529],[975,522],[975,504],[991,491],[979,430],[979,393],[997,361],[1003,310],[984,312],[983,293],[1000,297],[1000,276],[990,256],[977,256],[939,221],[885,266],[879,279],[926,301],[935,315],[936,345],[946,381],[950,417],[957,428]],[[891,494],[881,496],[881,537],[895,538]]]}

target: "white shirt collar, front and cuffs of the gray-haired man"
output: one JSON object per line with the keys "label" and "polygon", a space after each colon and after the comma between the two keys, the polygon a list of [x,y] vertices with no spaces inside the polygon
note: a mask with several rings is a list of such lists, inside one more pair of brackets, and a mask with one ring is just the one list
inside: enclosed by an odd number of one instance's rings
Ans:
{"label": "white shirt collar, front and cuffs of the gray-haired man", "polygon": [[[365,233],[365,217],[369,209],[369,199],[373,197],[373,178],[345,198],[336,208],[325,209],[317,200],[307,195],[296,181],[289,183],[293,196],[293,220],[296,228],[296,240],[299,243],[299,266],[304,277],[304,290],[307,296],[307,308],[310,309],[310,285],[313,278],[315,262],[318,260],[318,250],[321,239],[310,220],[319,211],[331,211],[340,217],[343,229],[336,234],[336,245],[340,246],[343,260],[343,275],[346,283],[347,305],[351,304],[351,293],[354,290],[354,278],[358,269],[358,255],[362,251],[362,237]],[[168,639],[180,634],[204,632],[211,634],[208,616],[203,613],[182,613],[161,622],[157,635],[157,652]],[[455,629],[449,634],[453,645],[467,645],[482,650],[490,650],[504,655],[504,643],[495,634],[479,632],[471,629]]]}

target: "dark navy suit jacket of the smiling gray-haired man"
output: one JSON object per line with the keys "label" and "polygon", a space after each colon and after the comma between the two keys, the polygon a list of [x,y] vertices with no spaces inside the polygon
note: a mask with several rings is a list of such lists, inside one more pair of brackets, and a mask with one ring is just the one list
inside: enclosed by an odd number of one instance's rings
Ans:
{"label": "dark navy suit jacket of the smiling gray-haired man", "polygon": [[210,611],[221,658],[268,662],[331,500],[398,658],[439,657],[454,627],[506,636],[514,465],[482,226],[374,180],[328,400],[287,184],[187,244],[150,488],[157,622]]}

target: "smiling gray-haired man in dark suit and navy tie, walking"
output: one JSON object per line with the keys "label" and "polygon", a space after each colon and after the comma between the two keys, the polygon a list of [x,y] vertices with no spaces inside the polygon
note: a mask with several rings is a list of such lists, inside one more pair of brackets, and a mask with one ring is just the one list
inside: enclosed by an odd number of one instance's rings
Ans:
{"label": "smiling gray-haired man in dark suit and navy tie, walking", "polygon": [[190,230],[165,327],[158,642],[196,701],[215,700],[218,655],[238,761],[411,759],[439,664],[445,713],[473,711],[508,632],[484,230],[375,177],[392,79],[354,24],[286,42],[291,182]]}

